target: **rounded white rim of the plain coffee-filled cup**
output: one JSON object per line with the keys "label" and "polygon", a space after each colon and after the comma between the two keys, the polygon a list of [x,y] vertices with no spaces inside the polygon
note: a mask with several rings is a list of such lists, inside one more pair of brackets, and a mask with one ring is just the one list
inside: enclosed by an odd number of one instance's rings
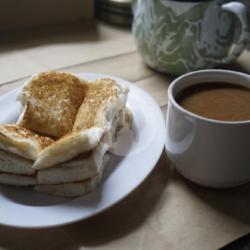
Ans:
{"label": "rounded white rim of the plain coffee-filled cup", "polygon": [[[188,116],[192,116],[198,120],[202,120],[202,121],[205,121],[205,122],[209,122],[209,123],[217,123],[217,124],[225,124],[225,125],[242,125],[242,124],[249,124],[250,123],[250,119],[249,120],[242,120],[242,121],[224,121],[224,120],[216,120],[216,119],[211,119],[211,118],[208,118],[208,117],[205,117],[205,116],[201,116],[201,115],[197,115],[191,111],[188,111],[187,109],[183,108],[176,100],[175,100],[175,97],[174,97],[174,94],[173,94],[173,91],[174,89],[176,88],[176,85],[179,84],[180,81],[182,81],[183,79],[185,78],[192,78],[194,76],[201,76],[202,75],[206,75],[206,74],[214,74],[214,75],[220,75],[220,76],[230,76],[230,75],[234,75],[238,78],[241,78],[241,79],[249,79],[250,81],[250,75],[246,74],[246,73],[242,73],[242,72],[237,72],[237,71],[232,71],[232,70],[221,70],[221,69],[206,69],[206,70],[197,70],[197,71],[194,71],[194,72],[189,72],[189,73],[186,73],[184,75],[181,75],[179,76],[178,78],[176,78],[174,81],[171,82],[169,88],[168,88],[168,91],[167,91],[167,96],[168,96],[168,101],[172,103],[172,105],[174,105],[174,107],[188,115]],[[209,82],[208,80],[204,81],[204,82]],[[237,84],[239,85],[239,83],[237,82],[232,82],[232,84]],[[250,83],[249,83],[249,88],[250,88]]]}

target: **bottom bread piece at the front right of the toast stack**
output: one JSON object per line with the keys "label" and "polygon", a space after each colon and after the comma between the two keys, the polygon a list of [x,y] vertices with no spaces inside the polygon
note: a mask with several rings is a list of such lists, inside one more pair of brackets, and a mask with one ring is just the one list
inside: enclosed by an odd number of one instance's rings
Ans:
{"label": "bottom bread piece at the front right of the toast stack", "polygon": [[76,197],[87,194],[95,189],[100,182],[100,176],[94,176],[90,179],[57,185],[35,185],[35,191],[39,193],[63,196],[63,197]]}

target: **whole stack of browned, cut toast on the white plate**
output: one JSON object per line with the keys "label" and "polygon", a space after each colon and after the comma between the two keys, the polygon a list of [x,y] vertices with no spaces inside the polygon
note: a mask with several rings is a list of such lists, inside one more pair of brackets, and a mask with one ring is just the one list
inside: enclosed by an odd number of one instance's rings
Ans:
{"label": "whole stack of browned, cut toast on the white plate", "polygon": [[24,85],[17,124],[0,125],[0,183],[80,196],[101,180],[108,150],[130,127],[128,88],[47,72]]}

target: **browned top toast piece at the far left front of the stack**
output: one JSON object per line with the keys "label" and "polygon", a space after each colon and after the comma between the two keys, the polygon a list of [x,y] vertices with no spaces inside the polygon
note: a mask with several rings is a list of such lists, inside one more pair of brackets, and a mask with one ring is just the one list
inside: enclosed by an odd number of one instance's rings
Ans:
{"label": "browned top toast piece at the far left front of the stack", "polygon": [[35,160],[39,152],[54,142],[18,125],[0,125],[0,149]]}

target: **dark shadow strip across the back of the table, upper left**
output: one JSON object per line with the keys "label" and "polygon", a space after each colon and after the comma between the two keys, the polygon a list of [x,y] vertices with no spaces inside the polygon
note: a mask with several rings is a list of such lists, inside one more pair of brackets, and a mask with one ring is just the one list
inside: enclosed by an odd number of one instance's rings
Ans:
{"label": "dark shadow strip across the back of the table, upper left", "polygon": [[4,31],[0,37],[0,52],[38,47],[46,44],[65,44],[98,41],[101,34],[94,21],[49,25],[38,28]]}

